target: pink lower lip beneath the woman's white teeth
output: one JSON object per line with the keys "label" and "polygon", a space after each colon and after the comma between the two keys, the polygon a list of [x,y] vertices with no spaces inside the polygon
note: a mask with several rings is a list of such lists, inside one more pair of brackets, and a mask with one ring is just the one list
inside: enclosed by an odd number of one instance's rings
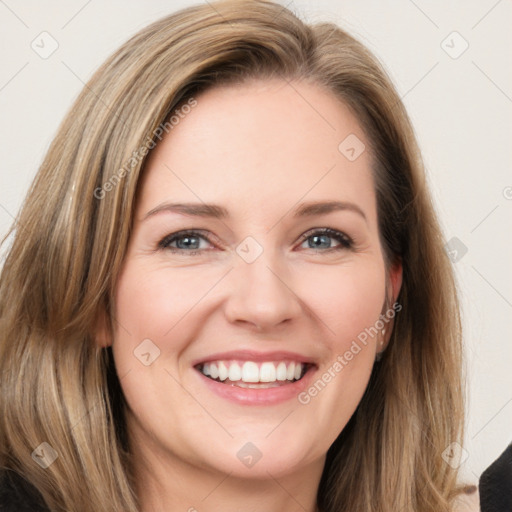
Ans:
{"label": "pink lower lip beneath the woman's white teeth", "polygon": [[316,372],[316,368],[311,367],[302,379],[289,384],[284,384],[275,388],[240,388],[230,384],[223,384],[210,379],[196,370],[202,381],[208,388],[218,396],[231,400],[241,405],[274,405],[287,400],[297,399],[299,393],[306,389]]}

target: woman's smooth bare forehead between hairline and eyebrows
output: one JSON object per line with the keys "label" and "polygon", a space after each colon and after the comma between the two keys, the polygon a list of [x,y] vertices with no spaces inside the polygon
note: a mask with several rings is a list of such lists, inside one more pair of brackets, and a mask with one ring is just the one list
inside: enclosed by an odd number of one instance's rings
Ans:
{"label": "woman's smooth bare forehead between hairline and eyebrows", "polygon": [[301,199],[330,199],[357,201],[375,216],[369,151],[353,159],[344,141],[356,156],[369,144],[332,93],[304,82],[253,81],[195,100],[152,151],[140,208],[200,200],[271,215]]}

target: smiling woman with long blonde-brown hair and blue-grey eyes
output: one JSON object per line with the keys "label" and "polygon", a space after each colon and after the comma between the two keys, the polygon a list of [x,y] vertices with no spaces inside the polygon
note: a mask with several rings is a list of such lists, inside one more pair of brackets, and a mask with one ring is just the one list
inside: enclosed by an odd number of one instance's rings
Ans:
{"label": "smiling woman with long blonde-brown hair and blue-grey eyes", "polygon": [[11,501],[454,509],[451,267],[400,98],[340,28],[227,0],[142,30],[77,99],[17,225]]}

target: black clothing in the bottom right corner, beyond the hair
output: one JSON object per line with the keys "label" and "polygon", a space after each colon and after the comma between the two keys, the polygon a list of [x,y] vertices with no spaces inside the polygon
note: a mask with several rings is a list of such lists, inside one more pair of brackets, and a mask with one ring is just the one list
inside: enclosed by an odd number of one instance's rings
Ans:
{"label": "black clothing in the bottom right corner, beyond the hair", "polygon": [[479,481],[481,512],[512,512],[512,444]]}

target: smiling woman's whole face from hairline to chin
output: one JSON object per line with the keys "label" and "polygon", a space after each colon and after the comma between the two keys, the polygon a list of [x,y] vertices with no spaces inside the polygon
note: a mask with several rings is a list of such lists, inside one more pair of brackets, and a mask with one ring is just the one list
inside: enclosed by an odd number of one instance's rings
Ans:
{"label": "smiling woman's whole face from hairline to chin", "polygon": [[151,153],[116,290],[132,445],[245,477],[318,469],[382,349],[369,144],[317,86],[196,100]]}

